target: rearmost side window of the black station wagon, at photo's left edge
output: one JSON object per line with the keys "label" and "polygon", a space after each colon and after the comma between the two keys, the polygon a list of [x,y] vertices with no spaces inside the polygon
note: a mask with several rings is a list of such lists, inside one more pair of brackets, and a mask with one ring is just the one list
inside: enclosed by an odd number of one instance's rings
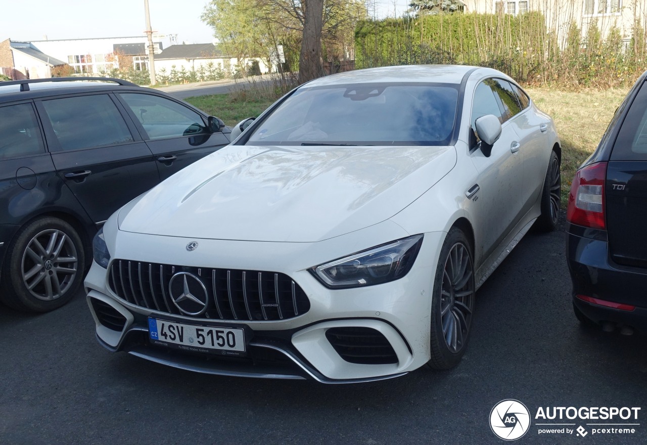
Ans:
{"label": "rearmost side window of the black station wagon, at photo's left edge", "polygon": [[0,159],[44,153],[31,103],[0,107]]}

